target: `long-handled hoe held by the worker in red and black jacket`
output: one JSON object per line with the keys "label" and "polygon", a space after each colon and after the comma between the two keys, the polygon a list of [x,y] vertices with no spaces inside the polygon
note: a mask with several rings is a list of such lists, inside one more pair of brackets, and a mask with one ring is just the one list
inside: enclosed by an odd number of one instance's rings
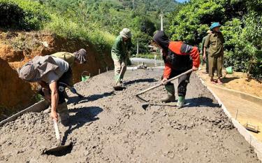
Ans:
{"label": "long-handled hoe held by the worker in red and black jacket", "polygon": [[[186,72],[184,72],[184,73],[181,73],[181,74],[178,75],[178,76],[175,76],[174,78],[170,78],[170,79],[166,80],[166,83],[168,83],[168,82],[170,82],[170,81],[173,81],[173,80],[175,80],[175,79],[177,79],[177,78],[180,78],[181,76],[184,76],[184,75],[186,75],[187,73],[191,73],[192,71],[193,71],[193,70],[190,69],[190,70],[188,70],[188,71],[186,71]],[[149,106],[149,104],[147,104],[147,102],[148,102],[147,100],[142,99],[141,97],[139,97],[139,95],[140,95],[140,94],[144,94],[145,92],[148,92],[148,91],[150,91],[150,90],[154,90],[155,88],[160,87],[161,85],[163,85],[163,83],[160,83],[160,84],[158,84],[158,85],[154,85],[153,87],[149,87],[149,88],[147,88],[146,90],[143,90],[143,91],[138,92],[138,93],[136,94],[136,98],[138,99],[138,101],[140,101],[141,103],[143,103],[143,104],[142,104],[142,108],[143,108],[144,110],[146,110],[146,108],[147,108],[147,106]]]}

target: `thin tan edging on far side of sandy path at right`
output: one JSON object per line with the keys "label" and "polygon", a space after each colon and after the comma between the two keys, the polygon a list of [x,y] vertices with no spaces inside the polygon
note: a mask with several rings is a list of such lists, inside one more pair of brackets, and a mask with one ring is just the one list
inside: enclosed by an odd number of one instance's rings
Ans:
{"label": "thin tan edging on far side of sandy path at right", "polygon": [[262,99],[259,97],[255,97],[251,94],[246,94],[237,90],[230,90],[228,88],[225,87],[218,87],[217,85],[208,85],[209,87],[214,87],[215,89],[220,89],[220,90],[224,90],[226,92],[230,92],[231,94],[235,95],[236,97],[240,97],[241,99],[245,99],[247,101],[251,101],[253,103],[256,103],[258,105],[262,106]]}

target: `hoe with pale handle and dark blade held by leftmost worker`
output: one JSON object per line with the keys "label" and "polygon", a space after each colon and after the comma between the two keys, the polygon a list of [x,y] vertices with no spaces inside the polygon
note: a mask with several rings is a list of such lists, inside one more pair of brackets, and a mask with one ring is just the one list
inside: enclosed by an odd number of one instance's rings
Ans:
{"label": "hoe with pale handle and dark blade held by leftmost worker", "polygon": [[49,150],[45,151],[46,155],[55,155],[55,156],[62,156],[66,155],[67,153],[70,153],[73,148],[73,143],[69,143],[66,146],[61,146],[61,139],[59,134],[59,128],[57,125],[57,121],[54,121],[54,131],[55,131],[55,137],[57,138],[57,147],[51,148]]}

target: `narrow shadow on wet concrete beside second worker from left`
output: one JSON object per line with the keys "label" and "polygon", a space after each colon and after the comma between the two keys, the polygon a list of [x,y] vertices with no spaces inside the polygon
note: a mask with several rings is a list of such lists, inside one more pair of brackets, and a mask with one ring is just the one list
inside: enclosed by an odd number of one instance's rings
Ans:
{"label": "narrow shadow on wet concrete beside second worker from left", "polygon": [[82,98],[77,97],[77,96],[69,97],[67,104],[82,104],[82,103],[85,103],[85,102],[88,102],[88,101],[96,101],[96,100],[102,99],[104,97],[112,96],[113,94],[114,94],[114,91],[104,92],[103,94],[92,94],[89,97],[82,97]]}

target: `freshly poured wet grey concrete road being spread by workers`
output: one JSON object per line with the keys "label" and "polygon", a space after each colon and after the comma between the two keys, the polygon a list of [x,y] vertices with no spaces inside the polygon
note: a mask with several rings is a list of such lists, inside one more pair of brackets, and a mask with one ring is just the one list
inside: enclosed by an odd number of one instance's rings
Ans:
{"label": "freshly poured wet grey concrete road being spread by workers", "polygon": [[185,108],[159,103],[163,87],[143,96],[154,103],[148,111],[140,108],[133,94],[161,73],[128,71],[123,92],[112,92],[112,71],[79,83],[88,97],[68,101],[72,126],[61,129],[74,143],[71,153],[41,155],[56,142],[52,121],[48,113],[28,113],[0,127],[0,162],[259,162],[196,75]]}

